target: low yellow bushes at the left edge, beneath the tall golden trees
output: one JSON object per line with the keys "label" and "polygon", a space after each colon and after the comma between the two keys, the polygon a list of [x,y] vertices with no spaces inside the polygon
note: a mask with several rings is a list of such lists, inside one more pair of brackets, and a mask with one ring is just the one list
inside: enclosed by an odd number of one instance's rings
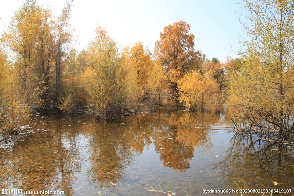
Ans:
{"label": "low yellow bushes at the left edge, beneath the tall golden trees", "polygon": [[[0,132],[16,133],[21,125],[28,122],[32,106],[40,103],[40,83],[34,78],[27,78],[24,88],[24,78],[19,73],[19,67],[13,70],[6,60],[6,55],[0,51]],[[29,76],[31,73],[26,72]]]}

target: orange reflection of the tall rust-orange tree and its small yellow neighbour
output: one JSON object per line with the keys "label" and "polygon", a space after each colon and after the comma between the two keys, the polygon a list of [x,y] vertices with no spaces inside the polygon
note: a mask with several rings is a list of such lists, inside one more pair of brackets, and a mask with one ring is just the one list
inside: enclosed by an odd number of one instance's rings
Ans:
{"label": "orange reflection of the tall rust-orange tree and its small yellow neighbour", "polygon": [[211,136],[203,126],[210,124],[204,122],[204,116],[209,118],[209,115],[215,114],[181,112],[179,115],[179,112],[172,112],[168,118],[164,118],[165,124],[158,127],[158,131],[153,135],[153,138],[160,138],[156,139],[154,144],[163,165],[180,172],[186,171],[190,168],[188,160],[194,157],[194,148],[200,148],[203,152],[211,149]]}

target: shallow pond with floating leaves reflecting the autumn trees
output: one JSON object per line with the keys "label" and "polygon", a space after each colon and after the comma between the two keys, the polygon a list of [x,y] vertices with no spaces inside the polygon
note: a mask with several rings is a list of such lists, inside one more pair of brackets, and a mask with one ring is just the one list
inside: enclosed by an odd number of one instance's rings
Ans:
{"label": "shallow pond with floating leaves reflecting the autumn trees", "polygon": [[234,181],[241,187],[246,181],[247,189],[292,189],[277,195],[294,195],[286,142],[234,132],[225,110],[141,107],[148,112],[117,120],[98,119],[87,110],[37,114],[38,123],[26,128],[31,135],[0,152],[1,189],[21,189],[23,195],[167,195],[146,188],[150,182],[167,192],[170,182],[177,195],[233,195],[203,189],[231,190],[237,188]]}

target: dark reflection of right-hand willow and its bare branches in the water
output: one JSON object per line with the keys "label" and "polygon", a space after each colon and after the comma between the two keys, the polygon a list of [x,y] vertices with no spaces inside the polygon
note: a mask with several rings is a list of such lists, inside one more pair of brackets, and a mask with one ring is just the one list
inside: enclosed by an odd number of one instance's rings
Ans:
{"label": "dark reflection of right-hand willow and its bare branches in the water", "polygon": [[[236,188],[233,181],[250,189],[294,189],[293,157],[287,143],[272,140],[274,135],[235,133],[220,167],[224,185]],[[274,185],[273,182],[278,182]]]}

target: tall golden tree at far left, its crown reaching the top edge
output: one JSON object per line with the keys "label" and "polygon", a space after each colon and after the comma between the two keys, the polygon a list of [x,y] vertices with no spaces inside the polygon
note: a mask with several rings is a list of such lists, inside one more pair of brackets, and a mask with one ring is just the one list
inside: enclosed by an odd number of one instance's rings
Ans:
{"label": "tall golden tree at far left, its crown reaching the top edge", "polygon": [[[48,83],[53,50],[51,34],[51,12],[36,4],[36,1],[26,1],[11,18],[7,31],[1,39],[6,48],[22,70],[24,87],[28,78],[38,78],[43,85]],[[29,76],[31,73],[33,76]]]}

